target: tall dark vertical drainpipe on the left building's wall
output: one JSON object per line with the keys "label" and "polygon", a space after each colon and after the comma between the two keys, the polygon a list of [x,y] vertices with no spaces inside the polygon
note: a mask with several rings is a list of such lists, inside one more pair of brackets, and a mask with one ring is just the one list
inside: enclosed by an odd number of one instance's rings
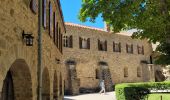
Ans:
{"label": "tall dark vertical drainpipe on the left building's wall", "polygon": [[37,100],[42,100],[42,0],[38,2],[38,97]]}

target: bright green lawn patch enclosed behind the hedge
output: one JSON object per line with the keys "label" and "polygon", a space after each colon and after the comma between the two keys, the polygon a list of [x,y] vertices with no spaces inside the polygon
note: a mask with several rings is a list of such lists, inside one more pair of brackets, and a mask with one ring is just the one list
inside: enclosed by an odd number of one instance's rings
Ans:
{"label": "bright green lawn patch enclosed behind the hedge", "polygon": [[146,100],[170,100],[170,94],[148,94],[148,99]]}

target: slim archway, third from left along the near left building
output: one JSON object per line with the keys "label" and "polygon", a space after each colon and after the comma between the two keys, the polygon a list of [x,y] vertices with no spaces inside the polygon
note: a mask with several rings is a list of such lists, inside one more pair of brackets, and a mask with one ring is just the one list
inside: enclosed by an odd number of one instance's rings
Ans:
{"label": "slim archway, third from left along the near left building", "polygon": [[58,99],[58,78],[57,78],[57,72],[54,72],[54,83],[53,83],[53,98],[54,100]]}

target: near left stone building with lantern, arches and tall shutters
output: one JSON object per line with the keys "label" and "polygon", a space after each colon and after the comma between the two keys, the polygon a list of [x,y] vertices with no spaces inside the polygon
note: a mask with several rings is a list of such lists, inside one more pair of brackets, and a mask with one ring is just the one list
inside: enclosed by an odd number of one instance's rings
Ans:
{"label": "near left stone building with lantern, arches and tall shutters", "polygon": [[[59,0],[43,1],[42,99],[62,100]],[[38,0],[0,0],[0,100],[37,100]]]}

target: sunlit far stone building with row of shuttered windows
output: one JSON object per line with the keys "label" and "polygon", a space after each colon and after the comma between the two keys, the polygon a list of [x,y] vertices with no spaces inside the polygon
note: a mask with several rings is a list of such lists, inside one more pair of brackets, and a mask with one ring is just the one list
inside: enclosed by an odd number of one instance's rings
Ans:
{"label": "sunlit far stone building with row of shuttered windows", "polygon": [[63,66],[67,94],[95,92],[100,80],[105,80],[110,91],[117,83],[154,79],[151,44],[109,30],[66,23]]}

